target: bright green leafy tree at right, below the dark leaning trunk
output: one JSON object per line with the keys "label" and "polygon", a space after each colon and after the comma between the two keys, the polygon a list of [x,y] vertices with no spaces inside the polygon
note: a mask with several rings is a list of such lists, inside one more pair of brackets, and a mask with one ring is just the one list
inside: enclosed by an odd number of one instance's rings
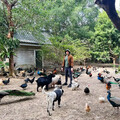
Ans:
{"label": "bright green leafy tree at right, below the dark leaning trunk", "polygon": [[120,54],[120,33],[105,12],[99,14],[94,36],[91,37],[93,59],[106,62]]}

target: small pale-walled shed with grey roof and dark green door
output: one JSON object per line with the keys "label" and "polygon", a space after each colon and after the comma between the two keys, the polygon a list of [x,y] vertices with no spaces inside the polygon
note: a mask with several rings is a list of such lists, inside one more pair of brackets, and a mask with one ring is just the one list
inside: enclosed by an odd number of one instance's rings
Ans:
{"label": "small pale-walled shed with grey roof and dark green door", "polygon": [[37,40],[31,32],[17,31],[14,38],[20,41],[20,47],[15,51],[15,68],[44,67],[41,46],[51,44],[49,37],[47,33],[43,32],[42,40]]}

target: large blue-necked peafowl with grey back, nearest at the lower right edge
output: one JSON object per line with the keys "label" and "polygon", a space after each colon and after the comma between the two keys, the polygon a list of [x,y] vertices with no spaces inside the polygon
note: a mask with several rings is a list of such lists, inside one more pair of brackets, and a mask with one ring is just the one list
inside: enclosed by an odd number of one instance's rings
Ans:
{"label": "large blue-necked peafowl with grey back, nearest at the lower right edge", "polygon": [[120,98],[118,97],[111,97],[111,91],[107,91],[108,95],[107,95],[107,99],[108,101],[110,102],[110,104],[113,106],[113,107],[117,107],[117,109],[119,110],[119,107],[120,107]]}

